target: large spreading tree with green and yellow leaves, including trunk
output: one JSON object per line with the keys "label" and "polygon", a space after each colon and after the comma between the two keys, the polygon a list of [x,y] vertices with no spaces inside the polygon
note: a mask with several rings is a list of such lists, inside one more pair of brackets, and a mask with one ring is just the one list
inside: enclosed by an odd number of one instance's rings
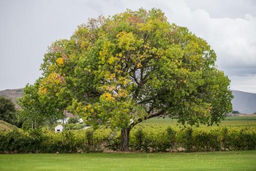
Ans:
{"label": "large spreading tree with green and yellow leaves, including trunk", "polygon": [[130,130],[143,120],[211,125],[232,111],[230,81],[215,61],[205,40],[169,24],[161,10],[126,10],[89,19],[70,39],[54,42],[38,95],[56,102],[56,111],[118,127],[127,151]]}

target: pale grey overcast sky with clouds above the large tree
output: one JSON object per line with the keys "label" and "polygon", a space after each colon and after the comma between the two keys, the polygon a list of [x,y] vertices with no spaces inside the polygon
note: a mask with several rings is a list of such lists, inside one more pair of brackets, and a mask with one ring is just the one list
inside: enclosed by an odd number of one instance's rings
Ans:
{"label": "pale grey overcast sky with clouds above the large tree", "polygon": [[69,38],[89,17],[140,7],[160,8],[170,23],[204,38],[231,79],[230,88],[256,93],[256,0],[0,0],[0,90],[34,83],[47,47]]}

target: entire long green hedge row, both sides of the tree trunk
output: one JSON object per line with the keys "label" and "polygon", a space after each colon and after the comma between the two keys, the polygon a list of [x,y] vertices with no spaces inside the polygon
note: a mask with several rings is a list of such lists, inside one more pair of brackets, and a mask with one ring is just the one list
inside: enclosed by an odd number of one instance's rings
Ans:
{"label": "entire long green hedge row, both sides of the tree trunk", "polygon": [[[101,127],[55,134],[50,131],[0,132],[1,153],[77,153],[118,150],[120,132]],[[135,127],[130,134],[131,151],[221,151],[255,149],[255,127]]]}

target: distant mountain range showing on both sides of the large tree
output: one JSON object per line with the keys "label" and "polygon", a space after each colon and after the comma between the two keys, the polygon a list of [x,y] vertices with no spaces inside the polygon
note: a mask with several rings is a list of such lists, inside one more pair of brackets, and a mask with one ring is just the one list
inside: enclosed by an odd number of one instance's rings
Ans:
{"label": "distant mountain range showing on both sides of the large tree", "polygon": [[[256,93],[247,93],[237,90],[232,90],[234,98],[232,99],[233,111],[239,111],[240,113],[251,114],[256,112]],[[16,103],[17,97],[22,97],[22,89],[12,89],[0,91],[0,96],[11,99],[15,106],[18,108]]]}

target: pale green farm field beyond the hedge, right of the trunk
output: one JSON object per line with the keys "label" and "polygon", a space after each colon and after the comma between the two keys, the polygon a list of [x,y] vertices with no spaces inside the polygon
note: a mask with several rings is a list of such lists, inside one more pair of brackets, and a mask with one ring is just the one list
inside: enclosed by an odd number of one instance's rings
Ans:
{"label": "pale green farm field beyond the hedge, right of the trunk", "polygon": [[[148,119],[142,123],[139,123],[139,125],[147,125],[147,126],[174,126],[174,125],[180,125],[182,124],[178,123],[176,119],[170,119],[170,118],[152,118]],[[206,125],[200,125],[206,126]],[[212,126],[217,126],[216,124]],[[222,120],[219,126],[256,126],[256,116],[228,116],[225,118],[225,120]]]}

